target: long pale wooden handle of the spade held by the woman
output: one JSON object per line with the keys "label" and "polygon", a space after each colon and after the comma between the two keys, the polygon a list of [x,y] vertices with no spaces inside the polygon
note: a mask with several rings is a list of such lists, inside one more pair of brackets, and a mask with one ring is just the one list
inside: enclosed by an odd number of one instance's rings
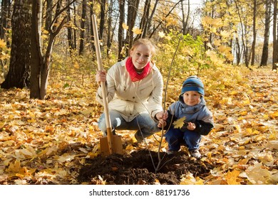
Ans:
{"label": "long pale wooden handle of the spade held by the woman", "polygon": [[[96,15],[92,15],[92,21],[93,21],[93,36],[94,41],[96,45],[96,58],[98,60],[98,70],[103,70],[103,63],[101,61],[101,48],[99,46],[98,41],[98,29],[96,24]],[[104,114],[105,114],[105,122],[106,122],[106,128],[107,128],[107,139],[108,139],[108,145],[109,145],[109,151],[110,154],[112,154],[112,129],[111,129],[111,121],[109,116],[109,110],[108,110],[108,101],[107,101],[107,94],[106,94],[106,85],[105,82],[101,82],[101,91],[103,95],[103,107],[104,107]]]}

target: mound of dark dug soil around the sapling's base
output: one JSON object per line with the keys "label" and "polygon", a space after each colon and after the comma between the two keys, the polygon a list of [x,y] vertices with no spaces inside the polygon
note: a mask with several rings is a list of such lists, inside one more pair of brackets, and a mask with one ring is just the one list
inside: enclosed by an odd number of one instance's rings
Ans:
{"label": "mound of dark dug soil around the sapling's base", "polygon": [[88,160],[86,166],[81,168],[78,181],[94,184],[94,179],[101,176],[110,185],[153,185],[158,182],[177,185],[182,174],[190,172],[204,178],[213,168],[209,163],[190,158],[184,151],[175,156],[160,153],[160,157],[163,159],[160,161],[160,169],[155,169],[158,167],[158,153],[154,151],[140,150],[129,155],[97,156]]}

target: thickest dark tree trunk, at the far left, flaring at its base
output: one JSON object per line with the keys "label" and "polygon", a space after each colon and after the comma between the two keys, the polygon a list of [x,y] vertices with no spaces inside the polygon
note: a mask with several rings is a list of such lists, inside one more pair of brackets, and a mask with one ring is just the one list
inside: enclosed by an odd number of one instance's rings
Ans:
{"label": "thickest dark tree trunk, at the far left, flaring at its base", "polygon": [[12,16],[12,43],[9,72],[1,87],[24,88],[30,86],[30,32],[31,32],[31,0],[14,1]]}

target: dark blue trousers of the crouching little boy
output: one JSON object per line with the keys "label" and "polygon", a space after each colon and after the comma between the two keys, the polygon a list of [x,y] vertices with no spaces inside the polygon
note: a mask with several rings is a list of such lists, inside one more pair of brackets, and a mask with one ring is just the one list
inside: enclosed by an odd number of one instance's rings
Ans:
{"label": "dark blue trousers of the crouching little boy", "polygon": [[165,134],[165,139],[168,142],[169,151],[180,150],[181,144],[186,144],[188,150],[192,151],[199,149],[202,136],[195,131],[180,131],[180,129],[170,128]]}

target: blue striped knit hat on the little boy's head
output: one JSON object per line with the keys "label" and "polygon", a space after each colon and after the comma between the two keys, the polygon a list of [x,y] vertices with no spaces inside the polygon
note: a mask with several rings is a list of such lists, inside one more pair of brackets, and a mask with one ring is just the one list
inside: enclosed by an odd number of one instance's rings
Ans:
{"label": "blue striped knit hat on the little boy's head", "polygon": [[204,96],[205,90],[202,80],[200,80],[199,77],[195,75],[188,77],[182,84],[182,92],[180,96],[182,97],[182,95],[187,91],[197,91],[200,93],[200,95]]}

